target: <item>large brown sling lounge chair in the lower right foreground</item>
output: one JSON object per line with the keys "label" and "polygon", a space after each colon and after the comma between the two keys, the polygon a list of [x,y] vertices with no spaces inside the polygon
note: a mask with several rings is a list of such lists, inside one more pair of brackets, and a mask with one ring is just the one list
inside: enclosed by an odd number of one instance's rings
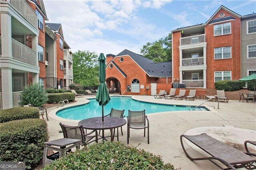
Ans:
{"label": "large brown sling lounge chair in the lower right foreground", "polygon": [[[186,149],[184,148],[182,137],[188,139],[190,142],[198,146],[204,152],[210,154],[210,156],[203,158],[192,158],[191,156],[189,156]],[[235,148],[232,148],[231,146],[228,146],[227,144],[220,142],[219,140],[216,140],[215,138],[212,138],[211,136],[208,136],[206,133],[193,136],[182,134],[180,136],[180,142],[186,156],[192,161],[210,160],[222,170],[224,168],[214,162],[214,160],[217,160],[227,166],[228,168],[226,169],[236,170],[236,168],[256,168],[256,166],[253,164],[256,162],[256,159],[250,156],[256,156],[256,154],[252,154],[250,152],[243,153],[239,150],[236,150]]]}

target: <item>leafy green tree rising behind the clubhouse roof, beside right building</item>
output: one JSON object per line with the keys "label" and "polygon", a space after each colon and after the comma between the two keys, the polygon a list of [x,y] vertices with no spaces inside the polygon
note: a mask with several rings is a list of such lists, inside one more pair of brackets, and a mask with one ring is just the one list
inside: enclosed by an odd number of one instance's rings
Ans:
{"label": "leafy green tree rising behind the clubhouse roof, beside right building", "polygon": [[155,42],[148,42],[140,49],[140,53],[154,62],[166,62],[172,60],[172,33],[165,38],[161,38]]}

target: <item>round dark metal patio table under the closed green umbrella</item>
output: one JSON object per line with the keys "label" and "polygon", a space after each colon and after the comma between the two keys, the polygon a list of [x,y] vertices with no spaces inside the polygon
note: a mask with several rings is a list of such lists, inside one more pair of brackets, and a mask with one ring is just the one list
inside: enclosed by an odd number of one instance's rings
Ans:
{"label": "round dark metal patio table under the closed green umbrella", "polygon": [[[119,117],[104,117],[104,122],[102,122],[102,117],[92,117],[89,119],[84,119],[78,123],[78,125],[83,125],[85,129],[89,130],[102,130],[102,139],[104,138],[104,130],[110,129],[111,142],[113,141],[113,129],[122,127],[126,124],[126,120]],[[118,133],[118,129],[117,129]]]}

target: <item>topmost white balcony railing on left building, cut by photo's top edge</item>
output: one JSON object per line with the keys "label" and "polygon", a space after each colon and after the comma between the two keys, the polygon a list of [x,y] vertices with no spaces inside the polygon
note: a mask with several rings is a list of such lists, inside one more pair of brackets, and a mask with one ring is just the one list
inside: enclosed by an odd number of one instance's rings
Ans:
{"label": "topmost white balcony railing on left building, cut by photo's top edge", "polygon": [[38,28],[36,12],[34,12],[34,10],[28,5],[26,0],[4,1],[9,2],[28,22],[30,22],[30,24],[32,24],[35,28]]}

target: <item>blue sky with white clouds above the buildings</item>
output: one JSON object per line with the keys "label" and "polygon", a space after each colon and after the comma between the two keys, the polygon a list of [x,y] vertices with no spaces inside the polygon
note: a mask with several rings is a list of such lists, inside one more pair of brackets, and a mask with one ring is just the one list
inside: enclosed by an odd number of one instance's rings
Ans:
{"label": "blue sky with white clouds above the buildings", "polygon": [[256,0],[44,0],[49,21],[62,24],[71,51],[118,54],[140,53],[154,42],[184,26],[205,23],[224,5],[240,14],[256,12]]}

